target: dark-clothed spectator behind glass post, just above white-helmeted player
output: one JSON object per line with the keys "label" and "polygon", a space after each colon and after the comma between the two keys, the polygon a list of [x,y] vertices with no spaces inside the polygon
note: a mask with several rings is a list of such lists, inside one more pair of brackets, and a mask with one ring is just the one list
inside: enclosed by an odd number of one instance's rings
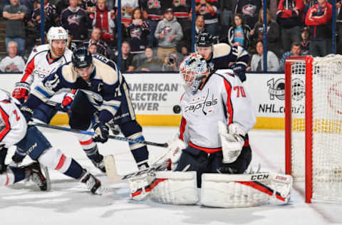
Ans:
{"label": "dark-clothed spectator behind glass post, just above white-helmeted player", "polygon": [[[41,26],[41,1],[36,1],[36,7],[33,9],[31,20],[28,23],[33,23],[35,26],[38,26],[40,31]],[[44,31],[48,31],[51,26],[59,25],[59,18],[56,11],[56,6],[49,3],[48,0],[44,0]]]}

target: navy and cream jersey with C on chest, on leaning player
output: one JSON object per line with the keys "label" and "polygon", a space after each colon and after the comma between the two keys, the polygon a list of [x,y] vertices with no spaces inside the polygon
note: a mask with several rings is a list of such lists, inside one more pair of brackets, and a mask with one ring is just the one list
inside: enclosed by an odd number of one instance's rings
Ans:
{"label": "navy and cream jersey with C on chest, on leaning player", "polygon": [[100,111],[100,120],[108,122],[120,107],[118,97],[123,92],[125,79],[116,64],[105,56],[93,54],[93,66],[93,73],[88,80],[83,80],[76,73],[73,63],[59,67],[56,73],[51,73],[36,86],[24,105],[34,109],[62,88],[90,90],[103,97],[103,102],[95,107]]}

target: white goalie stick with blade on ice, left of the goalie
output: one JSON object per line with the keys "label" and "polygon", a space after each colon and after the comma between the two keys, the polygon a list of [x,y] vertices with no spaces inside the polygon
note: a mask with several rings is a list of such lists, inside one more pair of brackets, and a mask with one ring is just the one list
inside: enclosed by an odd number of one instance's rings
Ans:
{"label": "white goalie stick with blade on ice, left of the goalie", "polygon": [[160,162],[157,164],[153,164],[152,166],[146,169],[140,169],[139,171],[131,172],[123,176],[120,176],[116,170],[116,164],[115,164],[115,159],[113,155],[106,155],[104,160],[105,160],[105,171],[107,173],[108,182],[110,183],[116,183],[123,179],[137,177],[142,174],[148,174],[150,172],[163,171],[163,170],[166,170],[167,167],[169,167],[171,163],[170,161]]}

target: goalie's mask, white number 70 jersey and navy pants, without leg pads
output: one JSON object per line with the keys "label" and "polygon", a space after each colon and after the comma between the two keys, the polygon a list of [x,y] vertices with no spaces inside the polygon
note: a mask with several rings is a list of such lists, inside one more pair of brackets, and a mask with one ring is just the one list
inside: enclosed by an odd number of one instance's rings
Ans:
{"label": "goalie's mask, white number 70 jersey and navy pants, without leg pads", "polygon": [[[180,102],[179,138],[187,147],[175,170],[182,171],[190,164],[187,170],[197,171],[198,187],[203,172],[242,174],[252,159],[247,132],[257,120],[256,110],[239,77],[226,71],[209,73],[199,54],[185,58],[180,65],[185,93]],[[223,125],[220,132],[219,123]],[[224,133],[226,127],[229,134]],[[222,146],[225,142],[234,145],[227,148]]]}

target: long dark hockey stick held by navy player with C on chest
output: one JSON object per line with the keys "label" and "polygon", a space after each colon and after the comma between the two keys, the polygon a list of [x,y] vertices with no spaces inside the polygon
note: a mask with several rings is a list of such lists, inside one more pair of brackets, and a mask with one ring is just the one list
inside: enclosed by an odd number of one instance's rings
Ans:
{"label": "long dark hockey stick held by navy player with C on chest", "polygon": [[[82,135],[93,136],[96,134],[95,132],[91,132],[88,130],[78,130],[78,129],[72,129],[72,128],[68,128],[68,127],[46,125],[43,123],[30,123],[29,125],[36,125],[37,127],[46,127],[46,128],[50,128],[50,129],[54,129],[54,130],[64,130],[64,131],[74,132],[74,133],[78,133],[78,134],[82,134]],[[120,137],[120,136],[115,136],[115,135],[109,135],[109,138],[114,139],[114,140],[124,141],[124,142],[134,142],[134,143],[139,143],[139,144],[144,144],[144,145],[153,145],[153,146],[157,146],[157,147],[168,147],[169,146],[167,143],[147,142],[145,140],[143,141],[143,140],[131,139],[128,137]]]}

